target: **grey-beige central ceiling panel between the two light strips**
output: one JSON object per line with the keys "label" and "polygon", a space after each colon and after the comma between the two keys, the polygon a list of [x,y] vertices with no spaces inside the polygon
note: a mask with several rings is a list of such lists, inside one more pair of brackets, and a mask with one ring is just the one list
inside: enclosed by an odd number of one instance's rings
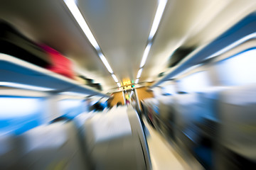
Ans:
{"label": "grey-beige central ceiling panel between the two light strips", "polygon": [[80,0],[80,10],[119,79],[137,74],[156,0]]}

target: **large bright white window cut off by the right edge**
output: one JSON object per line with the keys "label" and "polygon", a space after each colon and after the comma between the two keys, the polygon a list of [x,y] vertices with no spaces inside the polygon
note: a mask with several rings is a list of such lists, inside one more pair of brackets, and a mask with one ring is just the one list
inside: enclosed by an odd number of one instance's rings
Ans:
{"label": "large bright white window cut off by the right edge", "polygon": [[220,84],[236,86],[256,83],[256,49],[240,52],[219,62],[216,69]]}

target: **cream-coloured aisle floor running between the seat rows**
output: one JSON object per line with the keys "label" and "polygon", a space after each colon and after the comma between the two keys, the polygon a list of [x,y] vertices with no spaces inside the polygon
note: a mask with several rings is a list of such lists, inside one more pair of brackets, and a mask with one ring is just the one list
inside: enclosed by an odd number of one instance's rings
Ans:
{"label": "cream-coloured aisle floor running between the seat rows", "polygon": [[143,119],[149,135],[146,139],[149,145],[149,154],[153,170],[203,170],[203,167],[197,162],[191,162],[188,165],[178,152],[167,142],[163,136],[151,128],[146,118]]}

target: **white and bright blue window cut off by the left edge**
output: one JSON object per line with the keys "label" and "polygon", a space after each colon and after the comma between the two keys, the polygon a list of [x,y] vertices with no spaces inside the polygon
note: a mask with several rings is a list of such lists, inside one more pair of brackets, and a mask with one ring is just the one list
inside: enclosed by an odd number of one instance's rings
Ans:
{"label": "white and bright blue window cut off by the left edge", "polygon": [[0,133],[21,134],[43,123],[43,99],[0,97]]}

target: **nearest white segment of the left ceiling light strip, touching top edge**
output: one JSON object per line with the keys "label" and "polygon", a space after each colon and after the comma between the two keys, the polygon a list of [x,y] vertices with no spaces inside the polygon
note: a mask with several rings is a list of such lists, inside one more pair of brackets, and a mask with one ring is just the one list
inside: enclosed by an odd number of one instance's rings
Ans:
{"label": "nearest white segment of the left ceiling light strip, touching top edge", "polygon": [[78,25],[85,33],[86,37],[90,41],[93,47],[96,50],[100,50],[100,46],[98,45],[95,37],[92,35],[92,31],[90,30],[89,26],[87,25],[85,18],[82,17],[82,13],[79,11],[78,6],[75,4],[74,0],[64,0],[65,4],[68,6],[70,12],[73,14],[75,20],[78,22]]}

